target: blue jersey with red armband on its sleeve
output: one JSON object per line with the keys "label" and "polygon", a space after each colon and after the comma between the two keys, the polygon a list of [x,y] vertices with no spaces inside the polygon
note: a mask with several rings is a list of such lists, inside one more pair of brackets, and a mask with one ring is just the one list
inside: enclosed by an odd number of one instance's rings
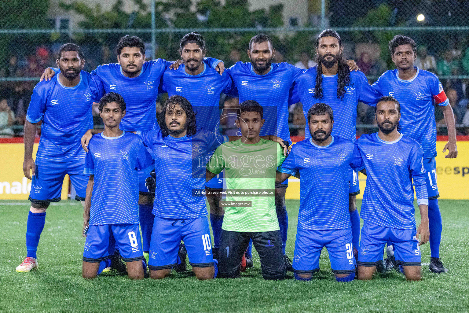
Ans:
{"label": "blue jersey with red armband on its sleeve", "polygon": [[415,139],[424,149],[424,158],[437,156],[437,128],[434,103],[449,105],[438,77],[418,69],[414,78],[402,80],[398,70],[388,70],[373,84],[383,96],[393,96],[401,104],[402,133]]}

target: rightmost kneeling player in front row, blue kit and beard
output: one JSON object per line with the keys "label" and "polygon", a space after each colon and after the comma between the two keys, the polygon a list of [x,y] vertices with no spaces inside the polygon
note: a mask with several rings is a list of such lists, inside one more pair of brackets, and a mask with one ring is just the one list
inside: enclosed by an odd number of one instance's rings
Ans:
{"label": "rightmost kneeling player in front row, blue kit and beard", "polygon": [[[381,97],[375,115],[378,133],[362,135],[356,142],[367,174],[358,279],[371,279],[386,242],[391,241],[401,272],[408,280],[420,280],[419,245],[430,236],[424,152],[414,139],[398,132],[401,106],[395,98]],[[417,229],[412,179],[422,218]]]}

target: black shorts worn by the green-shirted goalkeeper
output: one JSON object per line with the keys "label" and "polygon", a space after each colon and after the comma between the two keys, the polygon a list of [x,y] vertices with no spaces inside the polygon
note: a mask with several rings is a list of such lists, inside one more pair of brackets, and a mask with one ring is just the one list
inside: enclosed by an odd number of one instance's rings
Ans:
{"label": "black shorts worn by the green-shirted goalkeeper", "polygon": [[240,275],[241,260],[249,240],[259,253],[264,279],[284,279],[287,272],[283,260],[280,230],[240,232],[221,230],[218,277],[236,278]]}

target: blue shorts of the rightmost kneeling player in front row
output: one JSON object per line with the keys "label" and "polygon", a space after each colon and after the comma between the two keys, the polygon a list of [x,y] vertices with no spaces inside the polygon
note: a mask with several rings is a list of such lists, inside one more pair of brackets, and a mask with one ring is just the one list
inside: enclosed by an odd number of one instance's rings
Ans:
{"label": "blue shorts of the rightmost kneeling player in front row", "polygon": [[421,266],[422,257],[416,238],[417,229],[397,229],[363,221],[358,261],[360,266],[376,266],[383,260],[383,249],[388,240],[393,243],[396,263]]}

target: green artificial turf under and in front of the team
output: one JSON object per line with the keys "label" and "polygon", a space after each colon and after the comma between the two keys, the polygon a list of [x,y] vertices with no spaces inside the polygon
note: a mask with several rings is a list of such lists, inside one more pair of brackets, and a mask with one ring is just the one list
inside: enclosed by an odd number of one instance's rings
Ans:
{"label": "green artificial turf under and in front of the team", "polygon": [[[17,273],[15,267],[26,254],[29,204],[3,201],[0,312],[469,312],[468,203],[439,201],[443,215],[441,256],[449,273],[429,272],[430,247],[424,244],[420,282],[407,282],[393,271],[376,274],[372,281],[338,283],[325,250],[321,270],[312,281],[295,281],[292,273],[284,281],[264,281],[254,249],[254,267],[239,279],[199,282],[188,270],[183,274],[173,271],[161,281],[130,281],[125,275],[113,274],[86,281],[81,277],[83,211],[76,201],[61,201],[47,209],[38,247],[39,269]],[[299,201],[287,201],[290,258],[298,205]]]}

